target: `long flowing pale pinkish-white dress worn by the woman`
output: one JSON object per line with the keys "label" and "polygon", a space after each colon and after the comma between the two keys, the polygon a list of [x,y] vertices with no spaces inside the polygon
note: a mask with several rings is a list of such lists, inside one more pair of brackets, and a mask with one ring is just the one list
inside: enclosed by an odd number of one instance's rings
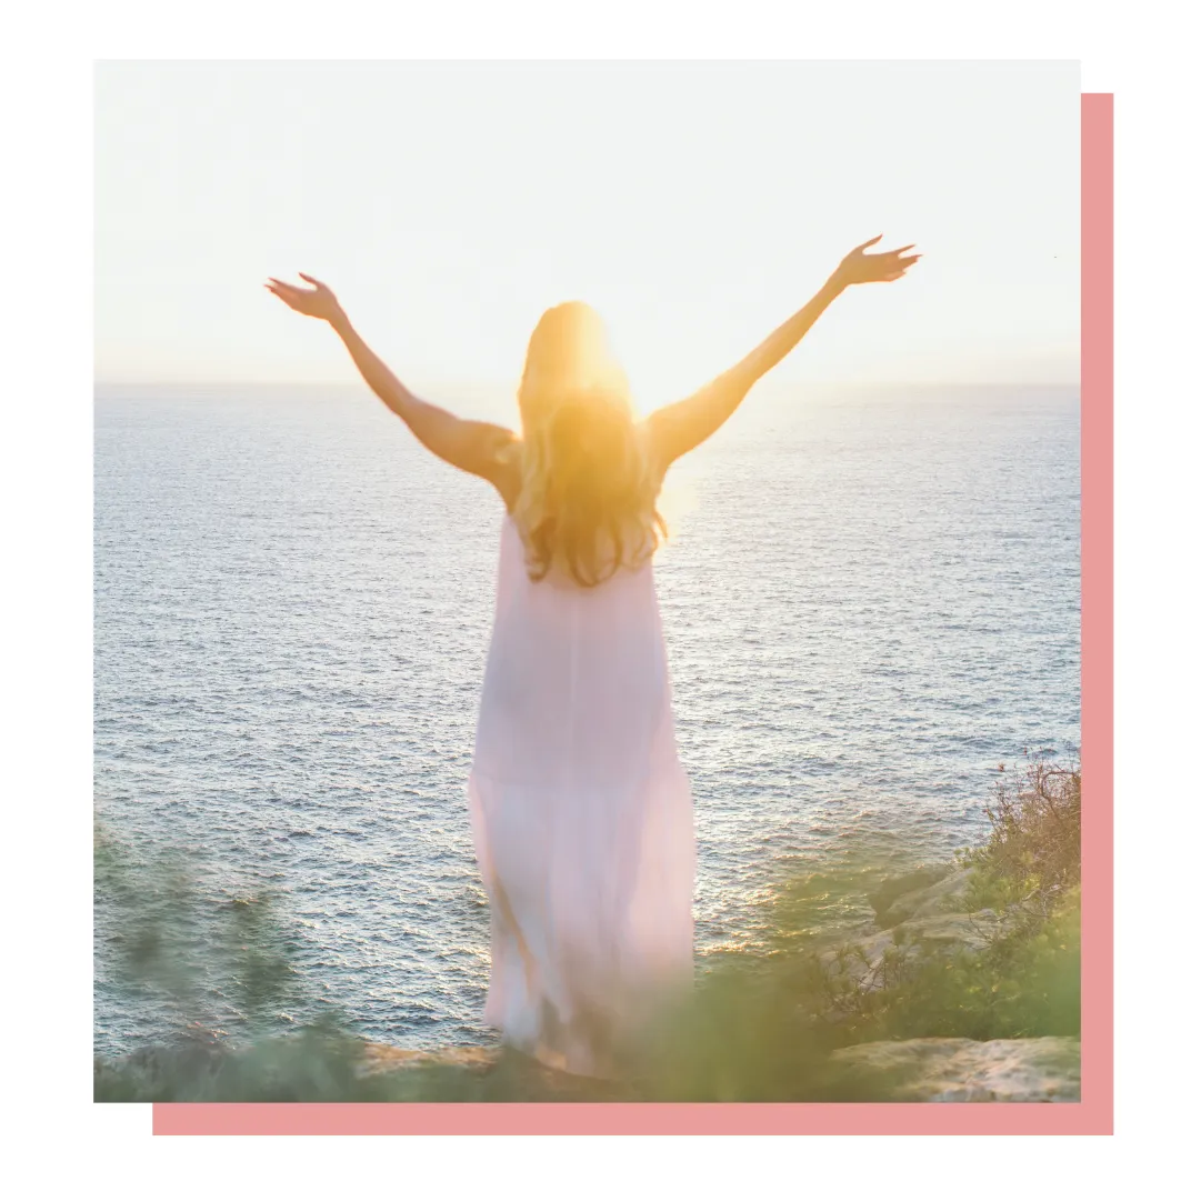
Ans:
{"label": "long flowing pale pinkish-white dress worn by the woman", "polygon": [[692,979],[692,796],[651,560],[534,582],[505,516],[468,800],[484,1019],[547,1065],[611,1074],[612,1045]]}

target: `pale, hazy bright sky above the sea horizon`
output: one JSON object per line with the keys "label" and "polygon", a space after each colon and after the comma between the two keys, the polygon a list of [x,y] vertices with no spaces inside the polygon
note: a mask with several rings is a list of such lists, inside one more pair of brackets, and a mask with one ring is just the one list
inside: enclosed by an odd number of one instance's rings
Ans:
{"label": "pale, hazy bright sky above the sea horizon", "polygon": [[784,379],[1075,383],[1079,91],[1075,63],[103,63],[96,379],[355,380],[263,291],[306,270],[423,390],[515,387],[586,300],[651,405],[881,231],[922,260]]}

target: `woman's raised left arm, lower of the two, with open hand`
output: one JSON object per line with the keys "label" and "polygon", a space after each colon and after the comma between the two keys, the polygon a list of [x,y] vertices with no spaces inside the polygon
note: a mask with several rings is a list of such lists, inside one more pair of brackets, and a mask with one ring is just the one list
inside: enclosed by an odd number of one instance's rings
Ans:
{"label": "woman's raised left arm, lower of the two, with open hand", "polygon": [[507,426],[459,418],[412,394],[360,338],[331,288],[302,272],[300,279],[312,286],[296,287],[270,279],[267,289],[296,312],[327,321],[344,341],[368,387],[429,451],[462,471],[483,476],[508,498],[505,449],[514,442],[513,432]]}

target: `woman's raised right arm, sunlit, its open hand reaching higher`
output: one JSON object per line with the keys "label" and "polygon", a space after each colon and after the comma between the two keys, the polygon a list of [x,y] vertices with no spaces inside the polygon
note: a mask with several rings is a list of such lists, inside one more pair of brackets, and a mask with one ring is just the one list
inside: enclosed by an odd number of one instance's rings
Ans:
{"label": "woman's raised right arm, sunlit, its open hand reaching higher", "polygon": [[704,443],[738,409],[751,386],[803,340],[824,308],[841,292],[854,283],[893,282],[901,279],[907,267],[919,257],[918,254],[902,257],[906,250],[912,249],[909,246],[883,254],[866,254],[867,248],[879,241],[881,234],[850,250],[824,286],[737,365],[697,393],[670,403],[648,416],[647,429],[661,468],[667,468],[686,451]]}

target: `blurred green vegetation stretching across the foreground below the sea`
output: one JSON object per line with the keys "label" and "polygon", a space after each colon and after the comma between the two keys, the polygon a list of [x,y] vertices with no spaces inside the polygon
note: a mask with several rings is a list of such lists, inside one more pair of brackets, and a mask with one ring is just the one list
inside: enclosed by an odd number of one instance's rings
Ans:
{"label": "blurred green vegetation stretching across the foreground below the sea", "polygon": [[[490,1069],[366,1074],[364,1043],[333,1013],[276,1036],[274,1014],[299,981],[274,900],[227,900],[217,937],[197,947],[183,866],[133,874],[126,850],[103,837],[96,889],[119,913],[118,970],[190,1016],[172,1046],[96,1062],[96,1098],[881,1101],[899,1079],[859,1076],[834,1051],[889,1038],[1077,1036],[1082,775],[1037,756],[1000,770],[987,840],[955,867],[965,877],[958,909],[978,915],[972,947],[932,952],[903,934],[908,924],[882,935],[873,957],[856,940],[834,940],[834,920],[863,914],[875,881],[870,863],[847,854],[768,903],[766,948],[711,957],[692,999],[632,1048],[626,1082],[611,1087],[556,1077],[511,1052]],[[920,868],[896,877],[874,896],[877,913],[938,876]],[[210,974],[244,1014],[233,1051],[191,1017]]]}

